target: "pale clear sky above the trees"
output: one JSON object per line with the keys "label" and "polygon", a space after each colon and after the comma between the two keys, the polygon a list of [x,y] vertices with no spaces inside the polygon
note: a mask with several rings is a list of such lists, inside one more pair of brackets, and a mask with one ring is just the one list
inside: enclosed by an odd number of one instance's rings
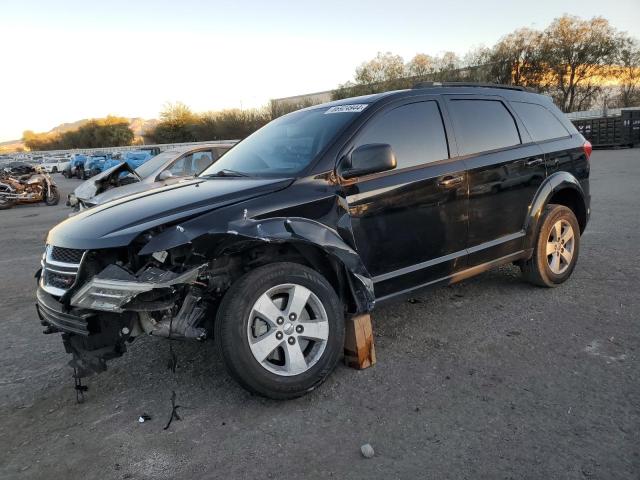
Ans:
{"label": "pale clear sky above the trees", "polygon": [[491,46],[569,13],[640,38],[640,0],[0,0],[0,141],[108,114],[330,90],[377,52]]}

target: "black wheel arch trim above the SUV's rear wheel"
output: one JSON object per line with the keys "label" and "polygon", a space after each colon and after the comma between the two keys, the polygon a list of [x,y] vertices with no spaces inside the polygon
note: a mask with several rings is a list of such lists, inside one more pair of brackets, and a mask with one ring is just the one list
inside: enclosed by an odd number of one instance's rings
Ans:
{"label": "black wheel arch trim above the SUV's rear wheel", "polygon": [[569,172],[556,172],[550,175],[538,188],[531,202],[524,224],[526,233],[525,248],[533,248],[534,236],[542,212],[549,204],[564,205],[571,209],[578,219],[580,233],[584,232],[589,220],[589,211],[585,193],[580,182]]}

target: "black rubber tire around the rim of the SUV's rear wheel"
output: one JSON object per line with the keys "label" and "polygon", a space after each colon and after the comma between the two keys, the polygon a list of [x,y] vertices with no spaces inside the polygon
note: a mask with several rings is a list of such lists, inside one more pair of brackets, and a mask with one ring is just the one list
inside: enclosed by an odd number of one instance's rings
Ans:
{"label": "black rubber tire around the rim of the SUV's rear wheel", "polygon": [[[573,228],[574,234],[573,257],[571,258],[569,267],[561,274],[556,274],[551,271],[546,255],[547,239],[549,238],[551,228],[558,220],[567,221],[571,225],[571,228]],[[538,234],[536,249],[537,268],[540,270],[540,276],[545,283],[549,285],[559,285],[571,276],[580,254],[580,226],[576,216],[569,208],[563,205],[549,205],[547,207],[547,212],[543,218],[540,233]]]}

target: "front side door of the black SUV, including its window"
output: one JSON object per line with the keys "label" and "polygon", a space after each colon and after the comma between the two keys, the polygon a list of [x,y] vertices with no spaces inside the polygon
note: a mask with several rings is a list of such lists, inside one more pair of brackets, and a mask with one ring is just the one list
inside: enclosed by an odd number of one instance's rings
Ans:
{"label": "front side door of the black SUV, including its window", "polygon": [[377,113],[347,149],[389,144],[398,162],[343,182],[358,253],[379,299],[465,266],[465,165],[451,159],[446,124],[436,97],[405,100]]}

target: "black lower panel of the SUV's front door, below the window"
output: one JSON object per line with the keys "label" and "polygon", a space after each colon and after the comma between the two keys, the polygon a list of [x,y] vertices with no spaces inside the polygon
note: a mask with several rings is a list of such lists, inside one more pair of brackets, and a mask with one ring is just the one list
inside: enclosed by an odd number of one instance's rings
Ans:
{"label": "black lower panel of the SUV's front door, below the window", "polygon": [[[377,297],[464,267],[464,168],[461,161],[445,162],[347,187],[356,246],[374,277]],[[456,177],[460,183],[441,184]]]}

